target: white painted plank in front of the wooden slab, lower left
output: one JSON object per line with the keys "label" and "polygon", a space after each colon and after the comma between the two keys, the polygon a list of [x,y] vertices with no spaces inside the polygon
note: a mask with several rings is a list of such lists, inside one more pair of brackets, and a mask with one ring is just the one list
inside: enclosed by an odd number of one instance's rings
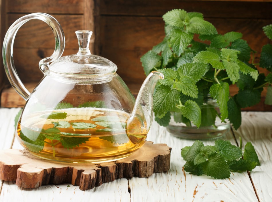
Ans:
{"label": "white painted plank in front of the wooden slab, lower left", "polygon": [[[69,187],[67,187],[69,185]],[[23,189],[12,182],[4,182],[0,201],[8,202],[128,202],[130,199],[127,179],[119,179],[116,183],[105,183],[100,187],[82,191],[77,186],[70,184],[46,185],[37,189]]]}

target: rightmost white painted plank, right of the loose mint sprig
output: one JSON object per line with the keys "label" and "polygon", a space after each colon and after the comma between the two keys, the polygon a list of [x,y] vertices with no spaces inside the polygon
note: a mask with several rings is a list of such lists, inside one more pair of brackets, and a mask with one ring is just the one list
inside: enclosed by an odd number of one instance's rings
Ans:
{"label": "rightmost white painted plank, right of the loose mint sprig", "polygon": [[253,144],[261,166],[257,166],[250,175],[259,200],[272,201],[272,113],[244,112],[243,123],[235,132],[235,136],[241,136],[243,144]]}

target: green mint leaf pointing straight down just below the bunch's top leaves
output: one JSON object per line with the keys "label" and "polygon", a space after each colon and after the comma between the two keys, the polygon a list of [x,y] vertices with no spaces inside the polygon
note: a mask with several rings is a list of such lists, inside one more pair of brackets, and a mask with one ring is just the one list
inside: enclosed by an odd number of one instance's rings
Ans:
{"label": "green mint leaf pointing straight down just below the bunch's top leaves", "polygon": [[188,34],[180,29],[174,29],[170,33],[170,43],[175,54],[180,56],[193,39],[193,34]]}

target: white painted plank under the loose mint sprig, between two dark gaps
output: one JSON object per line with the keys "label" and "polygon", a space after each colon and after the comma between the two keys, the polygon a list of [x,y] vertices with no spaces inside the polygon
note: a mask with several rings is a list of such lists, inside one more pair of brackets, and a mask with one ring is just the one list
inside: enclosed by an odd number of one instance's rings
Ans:
{"label": "white painted plank under the loose mint sprig, between two dark gaps", "polygon": [[[224,139],[235,144],[229,132]],[[180,155],[181,148],[191,146],[194,141],[182,140],[171,136],[164,127],[153,123],[148,140],[154,143],[166,143],[172,147],[170,170],[154,174],[148,179],[129,180],[131,202],[137,201],[239,201],[257,202],[253,186],[247,172],[232,173],[230,179],[212,179],[208,176],[195,176],[183,171],[185,161]],[[205,145],[214,145],[213,141],[204,141]],[[139,190],[140,194],[139,194]],[[145,191],[146,190],[146,191]]]}

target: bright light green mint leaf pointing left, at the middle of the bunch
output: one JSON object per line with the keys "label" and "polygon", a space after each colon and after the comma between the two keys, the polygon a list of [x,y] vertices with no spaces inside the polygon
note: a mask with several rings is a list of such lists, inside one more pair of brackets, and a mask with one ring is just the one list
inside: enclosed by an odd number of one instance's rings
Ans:
{"label": "bright light green mint leaf pointing left, at the middle of the bunch", "polygon": [[213,68],[225,69],[221,62],[221,58],[214,52],[211,51],[201,51],[193,59],[193,62],[203,62],[205,64],[211,64]]}

